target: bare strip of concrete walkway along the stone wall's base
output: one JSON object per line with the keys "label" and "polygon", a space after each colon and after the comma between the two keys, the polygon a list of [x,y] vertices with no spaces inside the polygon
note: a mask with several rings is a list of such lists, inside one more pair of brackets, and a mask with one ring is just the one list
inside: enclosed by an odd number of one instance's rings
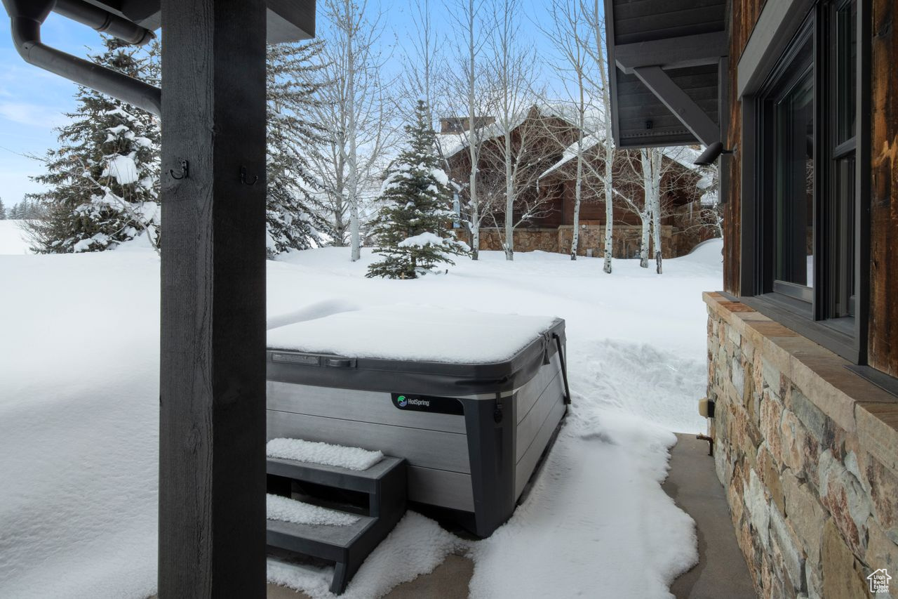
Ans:
{"label": "bare strip of concrete walkway along the stone wall's base", "polygon": [[699,537],[699,563],[674,580],[671,593],[677,599],[754,599],[757,595],[735,541],[726,493],[714,472],[708,442],[678,434],[662,487],[695,520]]}

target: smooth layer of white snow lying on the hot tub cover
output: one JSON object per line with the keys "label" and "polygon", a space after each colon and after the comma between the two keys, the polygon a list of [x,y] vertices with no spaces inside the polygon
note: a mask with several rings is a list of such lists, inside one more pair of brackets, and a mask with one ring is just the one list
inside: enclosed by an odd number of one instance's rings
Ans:
{"label": "smooth layer of white snow lying on the hot tub cover", "polygon": [[490,363],[508,360],[556,321],[409,304],[376,306],[269,330],[271,349],[349,358]]}

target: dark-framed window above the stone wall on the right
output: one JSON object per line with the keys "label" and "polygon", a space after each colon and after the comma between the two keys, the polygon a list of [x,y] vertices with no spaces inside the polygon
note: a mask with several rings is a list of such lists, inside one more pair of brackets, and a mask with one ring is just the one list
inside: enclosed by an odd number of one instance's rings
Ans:
{"label": "dark-framed window above the stone wall on the right", "polygon": [[858,355],[857,31],[857,0],[814,3],[752,109],[753,295],[843,355]]}

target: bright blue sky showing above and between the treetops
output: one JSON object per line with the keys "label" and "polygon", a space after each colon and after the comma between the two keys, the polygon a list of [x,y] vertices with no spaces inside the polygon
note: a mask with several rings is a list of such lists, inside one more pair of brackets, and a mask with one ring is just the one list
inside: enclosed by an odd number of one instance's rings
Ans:
{"label": "bright blue sky showing above and between the treetops", "polygon": [[[408,0],[369,0],[370,7],[383,11],[385,43],[402,45],[407,42],[413,26]],[[453,4],[451,2],[447,4]],[[537,22],[548,16],[548,0],[527,2],[521,33],[537,49],[550,52],[549,42],[543,39]],[[434,23],[439,33],[449,34],[450,19],[445,4],[431,0]],[[442,31],[441,31],[442,30]],[[41,31],[49,45],[75,56],[85,57],[89,47],[101,46],[96,31],[51,14]],[[401,49],[394,50],[398,58]],[[40,174],[41,165],[23,154],[43,155],[56,145],[53,129],[63,123],[64,112],[75,108],[75,84],[62,77],[31,67],[13,49],[9,20],[0,11],[0,199],[9,207],[22,199],[26,192],[40,191],[29,175]]]}

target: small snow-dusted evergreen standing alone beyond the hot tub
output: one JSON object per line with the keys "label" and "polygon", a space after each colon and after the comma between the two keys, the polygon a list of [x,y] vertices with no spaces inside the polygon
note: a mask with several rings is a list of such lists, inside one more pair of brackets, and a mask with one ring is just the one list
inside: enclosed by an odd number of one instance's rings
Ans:
{"label": "small snow-dusted evergreen standing alone beyond the hot tub", "polygon": [[454,264],[450,255],[470,252],[454,238],[455,218],[449,179],[439,167],[436,134],[418,101],[415,123],[407,125],[409,146],[393,163],[381,188],[381,208],[374,223],[382,260],[368,266],[368,277],[414,279],[436,264]]}

